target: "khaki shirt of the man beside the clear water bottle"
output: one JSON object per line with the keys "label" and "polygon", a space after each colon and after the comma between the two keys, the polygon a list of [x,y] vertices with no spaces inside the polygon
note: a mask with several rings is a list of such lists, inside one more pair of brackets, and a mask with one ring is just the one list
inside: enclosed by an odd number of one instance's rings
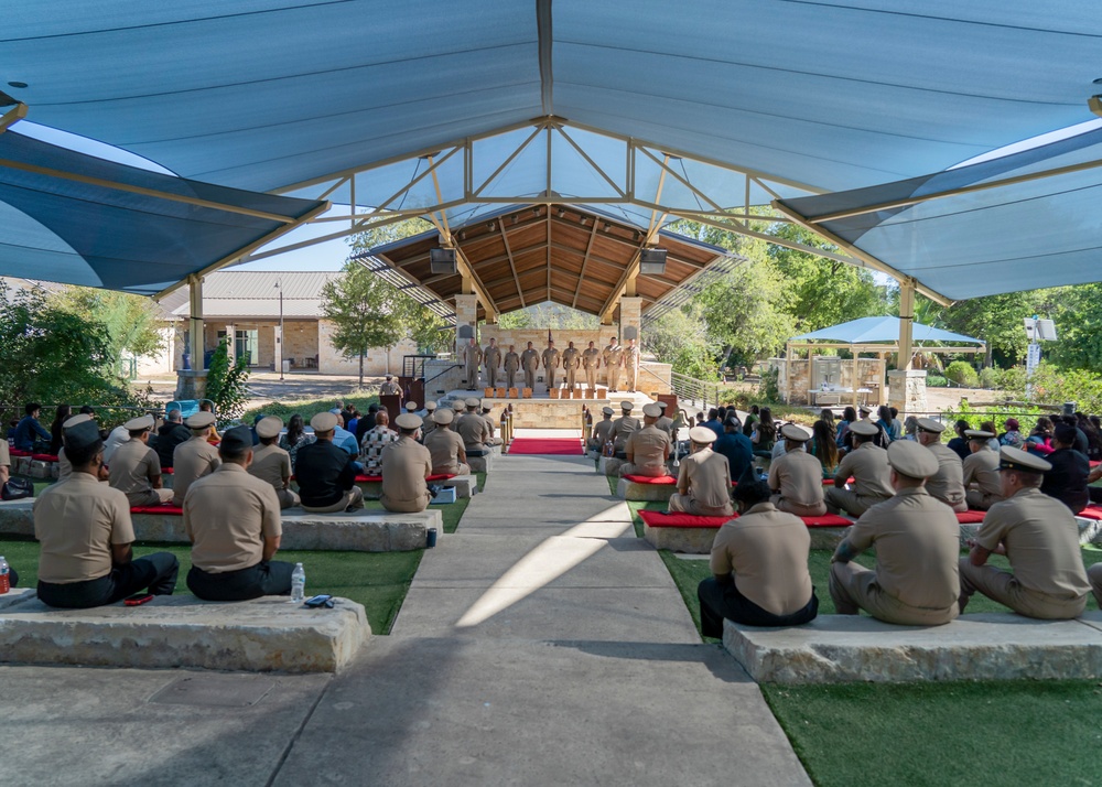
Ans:
{"label": "khaki shirt of the man beside the clear water bottle", "polygon": [[276,489],[239,464],[224,464],[191,485],[184,530],[192,540],[192,564],[202,571],[220,574],[256,565],[263,559],[264,539],[283,533]]}

